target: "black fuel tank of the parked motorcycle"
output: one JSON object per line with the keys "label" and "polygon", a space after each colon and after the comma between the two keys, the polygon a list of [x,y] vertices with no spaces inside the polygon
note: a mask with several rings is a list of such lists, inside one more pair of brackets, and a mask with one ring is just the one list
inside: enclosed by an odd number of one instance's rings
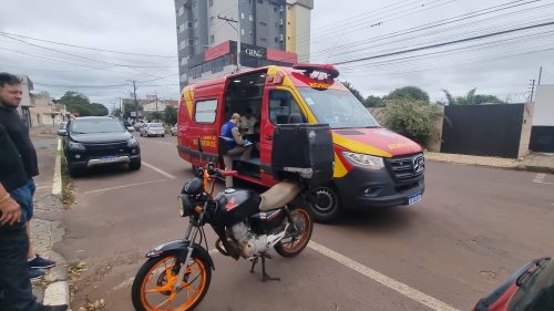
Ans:
{"label": "black fuel tank of the parked motorcycle", "polygon": [[253,214],[259,212],[261,198],[252,190],[228,188],[217,195],[213,225],[233,226]]}

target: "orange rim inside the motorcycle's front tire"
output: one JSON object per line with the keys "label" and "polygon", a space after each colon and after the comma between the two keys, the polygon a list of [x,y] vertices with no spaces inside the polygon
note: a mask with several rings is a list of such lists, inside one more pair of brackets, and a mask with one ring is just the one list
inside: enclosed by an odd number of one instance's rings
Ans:
{"label": "orange rim inside the motorcycle's front tire", "polygon": [[[206,287],[206,266],[197,258],[191,258],[185,271],[187,281],[175,291],[177,274],[173,267],[177,262],[176,256],[166,257],[152,267],[141,284],[141,301],[148,311],[185,311],[188,310],[202,296]],[[184,268],[182,268],[184,269]]]}

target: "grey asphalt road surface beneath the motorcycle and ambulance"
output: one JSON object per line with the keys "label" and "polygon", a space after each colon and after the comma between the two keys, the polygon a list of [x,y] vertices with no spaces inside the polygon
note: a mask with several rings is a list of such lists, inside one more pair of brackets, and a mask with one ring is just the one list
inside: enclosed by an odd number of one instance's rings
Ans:
{"label": "grey asphalt road surface beneath the motorcycle and ambulance", "polygon": [[[72,308],[133,310],[131,283],[144,253],[184,235],[176,196],[192,177],[176,138],[141,138],[143,167],[90,172],[75,180],[55,250],[88,270]],[[410,207],[348,214],[316,225],[293,259],[274,256],[261,283],[249,261],[214,253],[197,310],[469,310],[530,259],[552,256],[554,176],[428,163],[427,193]],[[209,247],[215,235],[206,227]]]}

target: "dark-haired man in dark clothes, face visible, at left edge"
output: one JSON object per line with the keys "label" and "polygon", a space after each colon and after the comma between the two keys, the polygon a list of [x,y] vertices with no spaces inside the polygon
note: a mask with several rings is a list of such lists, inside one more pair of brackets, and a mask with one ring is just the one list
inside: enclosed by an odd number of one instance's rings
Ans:
{"label": "dark-haired man in dark clothes, face visible, at left edge", "polygon": [[[32,177],[39,175],[39,165],[37,162],[37,152],[29,136],[29,128],[21,121],[17,107],[21,103],[22,89],[21,80],[13,74],[6,72],[0,73],[0,124],[3,125],[8,136],[16,145],[19,156],[23,163],[27,182],[23,187],[20,187],[13,195],[20,201],[24,201],[25,209],[22,210],[27,220],[27,232],[30,236],[31,218],[33,216],[33,195],[34,182]],[[34,252],[31,243],[29,243],[29,252],[27,255],[29,261],[29,277],[32,279],[41,278],[44,272],[40,268],[51,268],[55,265],[54,261],[44,259]]]}

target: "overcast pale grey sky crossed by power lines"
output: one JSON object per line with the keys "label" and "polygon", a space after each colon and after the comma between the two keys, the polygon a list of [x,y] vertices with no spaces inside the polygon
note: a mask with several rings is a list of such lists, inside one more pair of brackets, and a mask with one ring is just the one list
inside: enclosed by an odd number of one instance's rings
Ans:
{"label": "overcast pale grey sky crossed by power lines", "polygon": [[[35,92],[78,91],[111,107],[134,80],[140,97],[178,97],[174,1],[0,1],[0,71],[29,75]],[[363,95],[416,85],[441,100],[442,89],[478,87],[522,102],[540,66],[542,83],[554,83],[554,25],[427,49],[554,22],[554,0],[314,2],[311,62],[342,63],[340,79]],[[414,48],[422,49],[380,56]],[[363,58],[373,59],[352,62]]]}

